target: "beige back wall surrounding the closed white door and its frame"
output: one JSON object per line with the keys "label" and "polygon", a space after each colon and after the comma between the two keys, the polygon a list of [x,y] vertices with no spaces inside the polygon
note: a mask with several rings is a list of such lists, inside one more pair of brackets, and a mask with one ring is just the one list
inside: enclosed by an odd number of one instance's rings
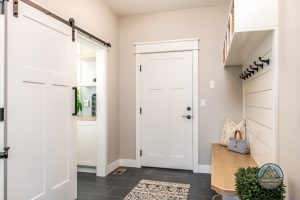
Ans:
{"label": "beige back wall surrounding the closed white door and its frame", "polygon": [[[227,6],[122,17],[119,27],[120,157],[135,159],[135,55],[134,43],[200,38],[199,95],[207,106],[200,108],[199,159],[210,164],[210,146],[216,142],[225,117],[242,117],[242,84],[237,70],[222,66]],[[216,88],[209,89],[209,81]]]}

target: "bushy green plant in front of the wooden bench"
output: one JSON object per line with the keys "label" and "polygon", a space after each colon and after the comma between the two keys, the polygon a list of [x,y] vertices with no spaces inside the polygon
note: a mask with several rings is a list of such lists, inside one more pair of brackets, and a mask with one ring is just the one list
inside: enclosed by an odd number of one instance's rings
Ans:
{"label": "bushy green plant in front of the wooden bench", "polygon": [[284,200],[285,186],[281,183],[275,189],[266,189],[258,181],[259,168],[240,168],[235,174],[235,186],[241,200]]}

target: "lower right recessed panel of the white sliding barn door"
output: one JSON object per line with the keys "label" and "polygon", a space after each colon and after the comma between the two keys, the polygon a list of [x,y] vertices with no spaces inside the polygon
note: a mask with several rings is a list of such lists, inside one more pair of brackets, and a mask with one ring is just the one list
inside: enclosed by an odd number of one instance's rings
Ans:
{"label": "lower right recessed panel of the white sliding barn door", "polygon": [[[66,86],[50,85],[47,93],[49,110],[47,115],[48,126],[47,146],[48,181],[52,190],[69,181],[69,127],[66,116],[72,112],[66,105],[69,104],[71,90]],[[57,98],[60,97],[60,98]],[[59,113],[59,115],[58,115]],[[55,176],[53,176],[55,174]]]}

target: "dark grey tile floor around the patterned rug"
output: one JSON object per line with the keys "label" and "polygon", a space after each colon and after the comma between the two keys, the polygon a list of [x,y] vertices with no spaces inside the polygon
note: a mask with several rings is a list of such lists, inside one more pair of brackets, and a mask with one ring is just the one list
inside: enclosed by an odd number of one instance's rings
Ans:
{"label": "dark grey tile floor around the patterned rug", "polygon": [[210,175],[191,171],[127,168],[122,175],[110,174],[102,178],[94,174],[78,173],[78,200],[123,199],[141,179],[191,184],[188,199],[211,200],[215,193],[210,189]]}

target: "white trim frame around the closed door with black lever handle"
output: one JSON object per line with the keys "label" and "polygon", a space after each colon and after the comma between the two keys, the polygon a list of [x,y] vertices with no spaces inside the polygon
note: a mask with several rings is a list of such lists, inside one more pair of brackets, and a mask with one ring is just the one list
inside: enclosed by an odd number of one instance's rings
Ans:
{"label": "white trim frame around the closed door with black lever handle", "polygon": [[140,150],[142,146],[142,124],[141,124],[141,55],[162,52],[183,52],[193,53],[193,172],[199,172],[199,137],[198,137],[198,57],[199,39],[168,40],[158,42],[136,43],[136,163],[142,166]]}

